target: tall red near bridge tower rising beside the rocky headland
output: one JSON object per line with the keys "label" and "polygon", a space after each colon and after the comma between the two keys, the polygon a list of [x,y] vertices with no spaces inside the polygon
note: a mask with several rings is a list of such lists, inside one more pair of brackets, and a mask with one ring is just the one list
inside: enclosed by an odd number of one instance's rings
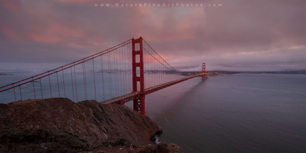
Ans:
{"label": "tall red near bridge tower rising beside the rocky headland", "polygon": [[[135,44],[139,43],[139,50],[135,50]],[[139,56],[138,56],[139,55]],[[136,62],[139,58],[139,62]],[[137,76],[136,68],[139,67],[140,75]],[[146,115],[145,111],[145,79],[144,79],[144,66],[143,66],[143,50],[142,50],[142,37],[138,39],[132,39],[132,82],[133,92],[137,92],[137,82],[140,84],[140,97],[133,100],[134,111],[140,112],[142,115]]]}

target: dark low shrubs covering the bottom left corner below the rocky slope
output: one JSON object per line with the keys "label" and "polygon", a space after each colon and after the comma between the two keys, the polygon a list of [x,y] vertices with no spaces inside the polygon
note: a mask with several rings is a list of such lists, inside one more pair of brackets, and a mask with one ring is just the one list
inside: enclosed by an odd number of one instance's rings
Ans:
{"label": "dark low shrubs covering the bottom left corner below the rocky slope", "polygon": [[79,152],[92,148],[86,140],[67,131],[0,129],[0,152]]}

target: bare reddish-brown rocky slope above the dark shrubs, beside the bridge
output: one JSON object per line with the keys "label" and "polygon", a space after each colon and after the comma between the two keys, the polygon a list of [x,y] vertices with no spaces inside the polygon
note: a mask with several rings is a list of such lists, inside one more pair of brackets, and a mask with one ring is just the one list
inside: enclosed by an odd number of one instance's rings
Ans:
{"label": "bare reddish-brown rocky slope above the dark shrubs, beside the bridge", "polygon": [[[67,98],[0,104],[0,128],[65,131],[88,144],[150,144],[161,128],[149,117],[125,105],[96,101],[74,103]],[[1,135],[2,136],[2,135]],[[1,142],[5,143],[5,142]]]}

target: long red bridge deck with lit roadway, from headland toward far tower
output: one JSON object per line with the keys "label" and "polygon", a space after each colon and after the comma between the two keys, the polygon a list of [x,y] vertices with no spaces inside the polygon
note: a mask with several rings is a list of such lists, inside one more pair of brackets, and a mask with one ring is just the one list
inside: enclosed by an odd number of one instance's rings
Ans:
{"label": "long red bridge deck with lit roadway, from headland toward far tower", "polygon": [[[186,80],[194,78],[194,77],[200,77],[200,76],[203,76],[203,75],[206,75],[206,74],[208,74],[208,73],[201,73],[201,74],[181,78],[181,79],[178,79],[178,80],[175,80],[175,81],[170,81],[170,82],[167,82],[167,83],[163,83],[163,84],[160,84],[160,85],[157,85],[157,86],[153,86],[151,88],[146,88],[144,94],[148,95],[152,92],[158,91],[160,89],[164,89],[165,87],[172,86],[172,85],[180,83],[182,81],[186,81]],[[126,94],[126,95],[115,97],[115,98],[112,98],[112,99],[109,99],[109,100],[106,100],[106,101],[101,101],[100,103],[103,103],[103,104],[112,104],[112,103],[119,103],[120,104],[121,103],[121,104],[123,104],[123,103],[126,103],[128,101],[137,99],[139,97],[140,97],[140,91],[136,91],[136,92],[132,92],[132,93],[129,93],[129,94]]]}

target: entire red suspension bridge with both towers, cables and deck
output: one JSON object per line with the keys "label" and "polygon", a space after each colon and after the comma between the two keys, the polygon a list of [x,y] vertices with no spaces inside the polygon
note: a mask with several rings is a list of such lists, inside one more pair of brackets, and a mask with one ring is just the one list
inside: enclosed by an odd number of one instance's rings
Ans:
{"label": "entire red suspension bridge with both towers, cables and deck", "polygon": [[13,94],[15,101],[50,97],[73,101],[87,101],[90,97],[101,103],[121,105],[133,101],[134,110],[146,115],[145,95],[194,77],[209,77],[205,63],[201,69],[192,76],[181,75],[140,37],[1,86],[0,93]]}

